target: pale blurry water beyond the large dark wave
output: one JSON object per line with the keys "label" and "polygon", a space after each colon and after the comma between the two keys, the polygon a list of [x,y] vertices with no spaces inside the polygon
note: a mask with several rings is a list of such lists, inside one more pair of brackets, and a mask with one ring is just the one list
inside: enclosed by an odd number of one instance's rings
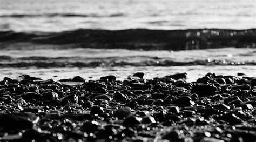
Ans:
{"label": "pale blurry water beyond the large dark wave", "polygon": [[250,29],[254,0],[0,0],[0,31]]}

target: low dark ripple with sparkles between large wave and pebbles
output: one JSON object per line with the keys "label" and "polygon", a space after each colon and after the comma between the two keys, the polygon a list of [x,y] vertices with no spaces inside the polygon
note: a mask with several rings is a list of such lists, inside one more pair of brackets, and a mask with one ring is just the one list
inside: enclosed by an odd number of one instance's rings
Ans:
{"label": "low dark ripple with sparkles between large wave and pebbles", "polygon": [[256,65],[255,61],[238,62],[232,60],[188,60],[176,61],[168,58],[149,56],[127,57],[10,57],[0,56],[0,67],[113,67],[113,66],[194,66],[194,65]]}

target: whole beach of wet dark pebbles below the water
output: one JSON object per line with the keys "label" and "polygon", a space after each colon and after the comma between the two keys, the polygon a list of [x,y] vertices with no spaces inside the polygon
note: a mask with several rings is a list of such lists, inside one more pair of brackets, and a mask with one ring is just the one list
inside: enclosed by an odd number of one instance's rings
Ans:
{"label": "whole beach of wet dark pebbles below the water", "polygon": [[[241,73],[240,73],[241,74]],[[239,74],[239,76],[240,76]],[[137,72],[0,82],[1,141],[255,141],[256,78]]]}

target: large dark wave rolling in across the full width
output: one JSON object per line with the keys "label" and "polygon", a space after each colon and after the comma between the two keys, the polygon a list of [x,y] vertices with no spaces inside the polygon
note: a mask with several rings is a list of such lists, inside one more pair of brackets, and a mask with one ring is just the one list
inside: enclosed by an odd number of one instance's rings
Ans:
{"label": "large dark wave rolling in across the full width", "polygon": [[0,44],[14,43],[70,45],[83,48],[131,50],[190,50],[256,46],[256,29],[187,29],[187,30],[96,30],[78,29],[63,32],[0,32]]}

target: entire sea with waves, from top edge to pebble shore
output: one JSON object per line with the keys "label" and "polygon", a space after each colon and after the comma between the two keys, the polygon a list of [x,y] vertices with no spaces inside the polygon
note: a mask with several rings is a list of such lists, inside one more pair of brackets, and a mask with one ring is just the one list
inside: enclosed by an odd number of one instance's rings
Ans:
{"label": "entire sea with waves, from top edge to pebble shore", "polygon": [[0,79],[256,77],[255,28],[254,0],[0,0]]}

